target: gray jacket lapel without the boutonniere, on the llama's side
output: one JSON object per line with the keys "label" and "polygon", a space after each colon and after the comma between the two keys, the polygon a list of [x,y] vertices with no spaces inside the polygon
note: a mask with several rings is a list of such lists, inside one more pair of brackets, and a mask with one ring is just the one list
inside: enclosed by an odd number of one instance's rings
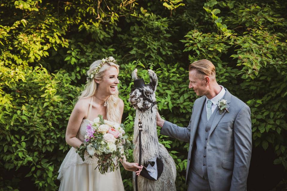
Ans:
{"label": "gray jacket lapel without the boutonniere, on the llama's side", "polygon": [[206,96],[202,96],[201,98],[198,99],[198,103],[194,105],[193,112],[195,113],[194,116],[194,123],[193,123],[193,128],[190,136],[190,142],[192,143],[196,134],[197,126],[200,120],[200,115],[202,110],[204,109],[205,106],[205,101],[206,101]]}

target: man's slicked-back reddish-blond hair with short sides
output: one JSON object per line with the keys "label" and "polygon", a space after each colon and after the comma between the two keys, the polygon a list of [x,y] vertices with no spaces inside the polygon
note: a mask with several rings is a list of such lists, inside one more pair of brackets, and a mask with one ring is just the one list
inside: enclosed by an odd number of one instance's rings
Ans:
{"label": "man's slicked-back reddish-blond hair with short sides", "polygon": [[206,59],[194,61],[189,65],[188,70],[196,70],[199,74],[215,77],[215,67],[211,61]]}

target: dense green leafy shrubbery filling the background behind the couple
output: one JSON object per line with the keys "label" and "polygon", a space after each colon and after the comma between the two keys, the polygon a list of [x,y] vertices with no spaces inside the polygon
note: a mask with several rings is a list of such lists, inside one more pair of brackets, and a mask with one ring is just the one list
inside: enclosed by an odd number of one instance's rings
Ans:
{"label": "dense green leafy shrubbery filling the background behind the couple", "polygon": [[[196,99],[188,65],[211,60],[219,83],[251,108],[249,190],[286,187],[286,1],[99,2],[0,4],[0,190],[57,190],[57,170],[70,148],[65,129],[87,67],[111,55],[121,66],[129,135],[135,67],[146,81],[146,69],[157,73],[160,113],[186,126]],[[159,139],[177,165],[178,190],[185,190],[188,144]],[[132,190],[131,173],[121,171]]]}

